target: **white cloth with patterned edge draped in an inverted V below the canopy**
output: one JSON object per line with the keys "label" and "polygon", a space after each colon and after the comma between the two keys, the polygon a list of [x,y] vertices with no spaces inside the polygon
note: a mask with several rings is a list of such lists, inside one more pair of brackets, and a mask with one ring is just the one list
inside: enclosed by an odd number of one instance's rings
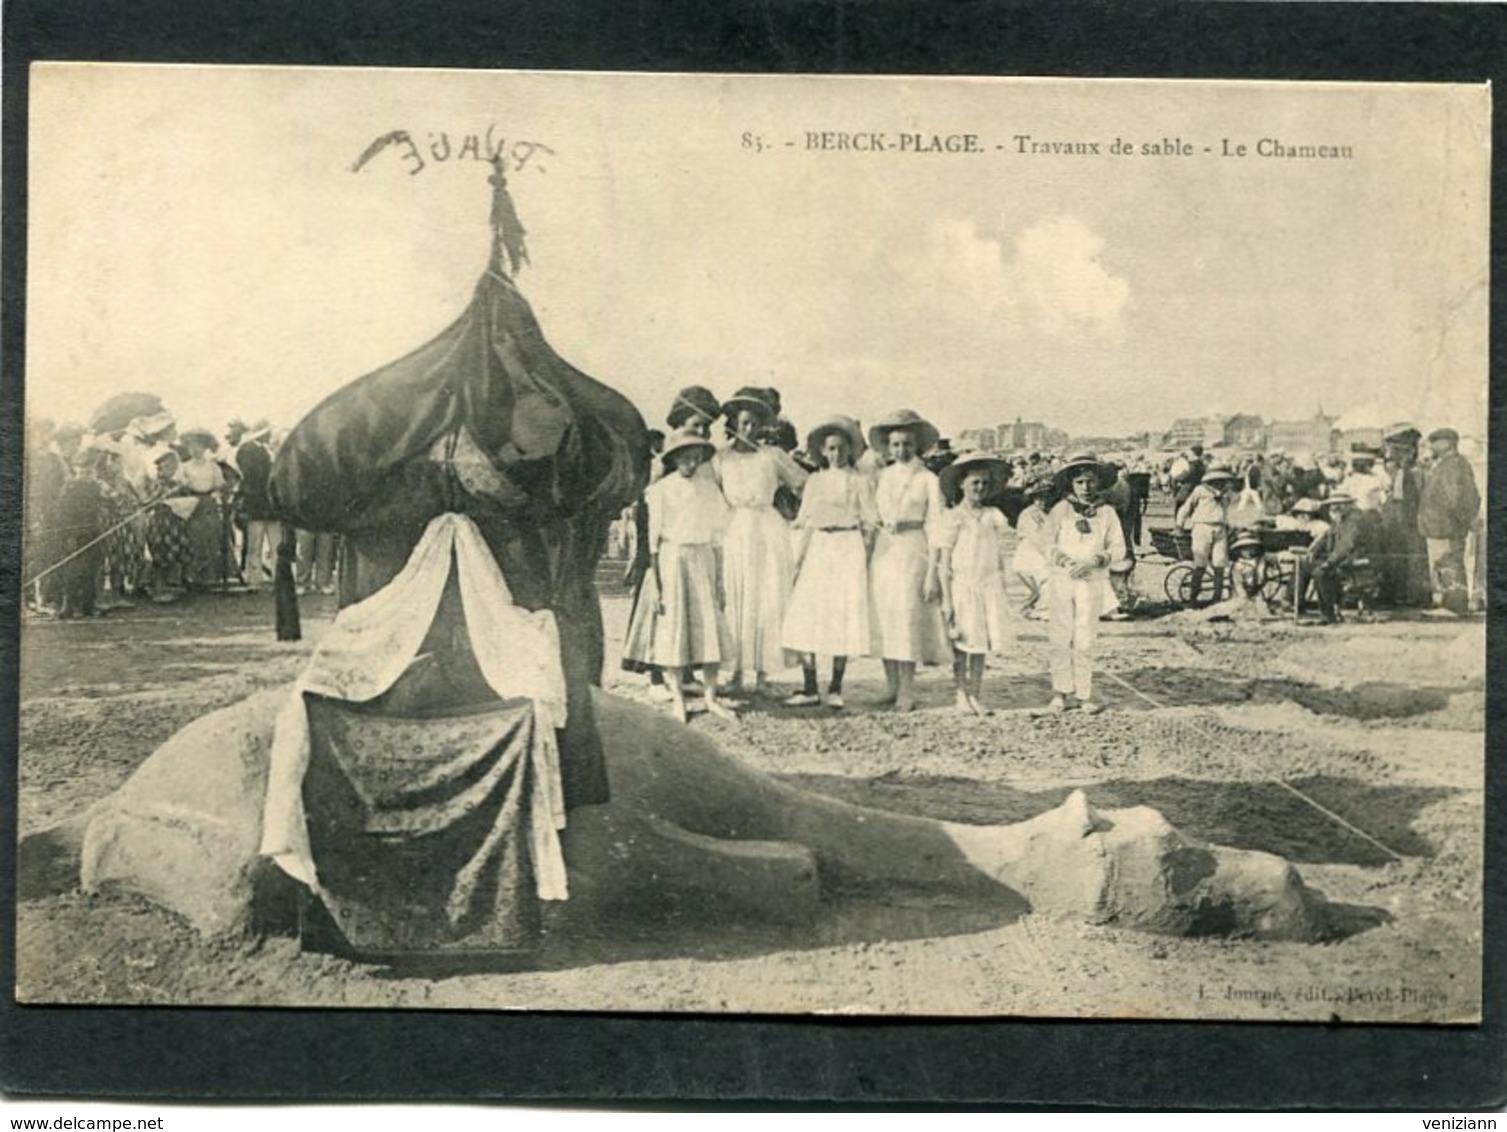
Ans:
{"label": "white cloth with patterned edge draped in an inverted V below the canopy", "polygon": [[262,811],[262,847],[285,873],[319,891],[309,850],[303,776],[309,767],[304,693],[366,702],[392,687],[419,654],[434,624],[451,567],[460,574],[461,604],[472,653],[487,684],[502,699],[533,702],[530,852],[541,900],[565,900],[565,828],[559,746],[565,725],[565,674],[555,615],[530,612],[512,591],[476,525],[448,512],[429,522],[402,571],[386,586],[347,606],[319,641],[277,716]]}

